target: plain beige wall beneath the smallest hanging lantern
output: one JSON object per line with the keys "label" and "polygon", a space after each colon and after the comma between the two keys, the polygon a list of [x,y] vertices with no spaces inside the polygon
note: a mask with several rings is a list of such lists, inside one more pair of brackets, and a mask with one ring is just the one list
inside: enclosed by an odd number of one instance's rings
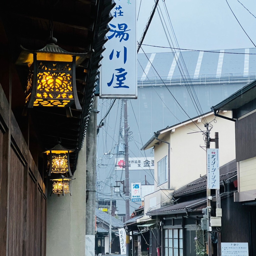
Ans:
{"label": "plain beige wall beneath the smallest hanging lantern", "polygon": [[[86,145],[86,143],[84,143]],[[85,256],[86,147],[79,152],[71,194],[47,198],[47,256]],[[48,186],[49,187],[49,186]]]}

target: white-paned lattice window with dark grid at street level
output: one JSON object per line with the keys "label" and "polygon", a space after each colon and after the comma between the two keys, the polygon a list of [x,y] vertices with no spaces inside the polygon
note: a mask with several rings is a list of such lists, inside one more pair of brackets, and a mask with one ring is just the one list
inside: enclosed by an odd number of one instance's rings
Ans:
{"label": "white-paned lattice window with dark grid at street level", "polygon": [[182,229],[165,229],[164,256],[183,256]]}

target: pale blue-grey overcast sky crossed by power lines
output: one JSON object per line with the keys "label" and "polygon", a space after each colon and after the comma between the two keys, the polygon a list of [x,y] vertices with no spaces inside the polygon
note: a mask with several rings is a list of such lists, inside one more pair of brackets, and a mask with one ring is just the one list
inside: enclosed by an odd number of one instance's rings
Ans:
{"label": "pale blue-grey overcast sky crossed by power lines", "polygon": [[[256,16],[255,0],[239,1]],[[140,0],[136,0],[136,2],[138,13]],[[240,24],[256,45],[256,18],[237,0],[228,0],[228,3]],[[165,0],[165,4],[180,48],[196,50],[254,48],[254,45],[233,16],[226,0]],[[141,1],[137,22],[138,41],[140,41],[153,6],[154,0]],[[171,34],[163,0],[159,1],[159,7],[162,10]],[[169,47],[157,11],[155,12],[143,44]],[[171,51],[170,49],[148,46],[143,46],[143,49],[146,53]],[[142,50],[139,53],[143,53]]]}

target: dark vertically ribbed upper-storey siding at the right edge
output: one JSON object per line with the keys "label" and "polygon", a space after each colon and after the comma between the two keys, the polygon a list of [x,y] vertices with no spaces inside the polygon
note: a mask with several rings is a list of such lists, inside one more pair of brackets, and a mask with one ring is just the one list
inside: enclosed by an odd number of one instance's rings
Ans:
{"label": "dark vertically ribbed upper-storey siding at the right edge", "polygon": [[236,161],[256,156],[256,112],[235,123]]}

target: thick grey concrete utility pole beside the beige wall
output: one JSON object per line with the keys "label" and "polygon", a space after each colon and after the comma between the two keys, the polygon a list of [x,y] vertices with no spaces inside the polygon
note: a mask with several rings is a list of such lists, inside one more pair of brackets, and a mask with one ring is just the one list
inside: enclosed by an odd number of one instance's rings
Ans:
{"label": "thick grey concrete utility pole beside the beige wall", "polygon": [[86,255],[95,255],[97,97],[94,97],[86,132]]}

